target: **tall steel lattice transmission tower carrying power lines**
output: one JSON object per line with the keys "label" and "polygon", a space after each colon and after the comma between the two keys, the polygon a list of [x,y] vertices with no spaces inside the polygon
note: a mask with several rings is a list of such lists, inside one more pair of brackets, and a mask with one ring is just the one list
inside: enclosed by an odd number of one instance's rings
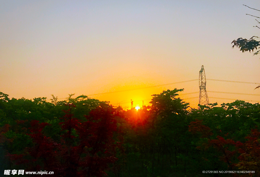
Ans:
{"label": "tall steel lattice transmission tower carrying power lines", "polygon": [[203,65],[199,71],[199,104],[208,105],[209,98],[206,91],[206,76]]}

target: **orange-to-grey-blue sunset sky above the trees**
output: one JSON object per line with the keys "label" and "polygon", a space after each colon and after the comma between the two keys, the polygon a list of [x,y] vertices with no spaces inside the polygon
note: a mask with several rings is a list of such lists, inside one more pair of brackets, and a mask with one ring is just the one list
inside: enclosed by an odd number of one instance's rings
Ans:
{"label": "orange-to-grey-blue sunset sky above the trees", "polygon": [[[260,83],[260,56],[232,49],[257,36],[260,1],[0,0],[0,91],[10,98],[92,95],[127,109],[199,78]],[[260,102],[258,84],[207,80],[210,103]],[[131,91],[106,93],[136,89]],[[214,93],[232,92],[259,96]],[[93,95],[98,93],[106,93]],[[198,105],[199,93],[180,95]],[[213,98],[212,98],[213,97]],[[221,99],[220,99],[221,98]]]}

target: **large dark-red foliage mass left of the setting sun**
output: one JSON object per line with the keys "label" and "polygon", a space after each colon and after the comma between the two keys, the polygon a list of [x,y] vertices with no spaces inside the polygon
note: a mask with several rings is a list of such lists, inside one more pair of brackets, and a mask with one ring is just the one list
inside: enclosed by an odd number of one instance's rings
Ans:
{"label": "large dark-red foliage mass left of the setting sun", "polygon": [[100,103],[92,110],[87,121],[72,115],[73,104],[60,123],[63,134],[60,142],[44,136],[48,123],[31,121],[30,134],[33,147],[23,154],[9,155],[16,165],[24,165],[27,171],[53,171],[52,176],[104,176],[108,164],[115,162],[117,130],[116,116],[120,114],[112,106]]}

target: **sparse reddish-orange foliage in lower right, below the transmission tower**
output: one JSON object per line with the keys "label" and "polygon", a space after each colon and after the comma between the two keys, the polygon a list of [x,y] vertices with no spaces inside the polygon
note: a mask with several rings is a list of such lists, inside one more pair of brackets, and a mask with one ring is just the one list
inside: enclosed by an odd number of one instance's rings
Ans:
{"label": "sparse reddish-orange foliage in lower right, below the transmission tower", "polygon": [[[192,134],[200,134],[201,138],[207,138],[208,142],[204,143],[204,148],[211,146],[222,152],[220,160],[223,160],[228,164],[230,169],[237,167],[240,170],[255,171],[255,173],[244,173],[241,176],[260,176],[260,132],[257,129],[252,129],[251,134],[246,136],[245,143],[240,141],[233,141],[231,139],[225,140],[221,136],[217,136],[217,139],[212,139],[213,133],[211,129],[202,124],[203,120],[196,119],[195,122],[191,122],[189,125],[189,131]],[[228,146],[235,146],[235,149],[230,151]],[[200,149],[201,147],[197,147]],[[232,163],[231,157],[238,154],[238,163]]]}

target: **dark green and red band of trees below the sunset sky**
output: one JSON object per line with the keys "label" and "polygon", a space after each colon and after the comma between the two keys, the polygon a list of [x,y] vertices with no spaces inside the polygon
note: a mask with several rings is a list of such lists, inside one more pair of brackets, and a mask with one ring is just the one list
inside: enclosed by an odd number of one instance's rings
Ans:
{"label": "dark green and red band of trees below the sunset sky", "polygon": [[0,92],[1,175],[25,169],[53,171],[49,176],[259,176],[260,104],[191,109],[181,91],[163,91],[151,106],[127,111],[84,95],[60,102],[53,96],[50,103]]}

